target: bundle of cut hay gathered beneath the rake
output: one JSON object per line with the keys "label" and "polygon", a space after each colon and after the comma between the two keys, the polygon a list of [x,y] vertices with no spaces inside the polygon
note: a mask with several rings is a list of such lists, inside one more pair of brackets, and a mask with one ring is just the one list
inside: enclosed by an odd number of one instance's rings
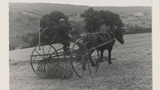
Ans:
{"label": "bundle of cut hay gathered beneath the rake", "polygon": [[68,79],[73,75],[71,63],[69,60],[50,60],[47,63],[39,63],[38,76],[40,78]]}

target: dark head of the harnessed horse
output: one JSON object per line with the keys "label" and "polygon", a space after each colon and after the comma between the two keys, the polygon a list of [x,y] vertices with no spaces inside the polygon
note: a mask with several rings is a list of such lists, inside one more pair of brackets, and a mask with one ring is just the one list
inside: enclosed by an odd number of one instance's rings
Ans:
{"label": "dark head of the harnessed horse", "polygon": [[115,38],[121,43],[124,44],[124,39],[123,39],[123,33],[120,30],[113,30],[112,31]]}

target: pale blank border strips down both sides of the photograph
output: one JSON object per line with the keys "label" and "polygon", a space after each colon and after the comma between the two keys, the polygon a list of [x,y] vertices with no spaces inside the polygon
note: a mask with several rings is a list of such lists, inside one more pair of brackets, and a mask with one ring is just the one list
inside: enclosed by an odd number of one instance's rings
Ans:
{"label": "pale blank border strips down both sides of the photograph", "polygon": [[[0,89],[9,90],[9,3],[0,3]],[[152,0],[152,87],[160,90],[160,1]]]}

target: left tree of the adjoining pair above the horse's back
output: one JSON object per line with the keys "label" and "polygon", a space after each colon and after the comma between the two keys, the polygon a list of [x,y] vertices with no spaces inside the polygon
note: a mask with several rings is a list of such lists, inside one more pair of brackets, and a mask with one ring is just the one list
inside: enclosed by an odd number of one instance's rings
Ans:
{"label": "left tree of the adjoining pair above the horse's back", "polygon": [[89,8],[81,14],[81,17],[84,18],[87,32],[93,33],[99,31],[101,20],[98,15],[98,11],[95,11],[93,8]]}

